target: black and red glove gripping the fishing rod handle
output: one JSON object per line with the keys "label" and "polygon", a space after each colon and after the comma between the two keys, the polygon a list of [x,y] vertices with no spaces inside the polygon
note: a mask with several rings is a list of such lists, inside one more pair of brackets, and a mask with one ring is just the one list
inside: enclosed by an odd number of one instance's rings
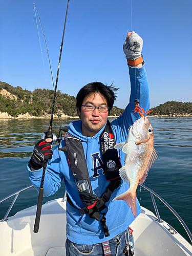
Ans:
{"label": "black and red glove gripping the fishing rod handle", "polygon": [[34,146],[33,155],[29,161],[29,165],[38,170],[44,164],[52,158],[53,151],[51,150],[51,143],[46,142],[46,139],[42,139]]}

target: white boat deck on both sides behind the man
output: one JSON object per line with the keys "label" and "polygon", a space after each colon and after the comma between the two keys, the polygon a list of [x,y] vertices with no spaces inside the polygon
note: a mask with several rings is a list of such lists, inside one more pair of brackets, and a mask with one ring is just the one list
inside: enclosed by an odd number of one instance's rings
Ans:
{"label": "white boat deck on both sides behind the man", "polygon": [[[0,222],[1,256],[64,256],[66,255],[66,202],[53,200],[42,205],[39,232],[33,232],[36,206],[17,212]],[[159,223],[153,212],[142,207],[132,223],[136,256],[192,255],[192,246],[179,234]]]}

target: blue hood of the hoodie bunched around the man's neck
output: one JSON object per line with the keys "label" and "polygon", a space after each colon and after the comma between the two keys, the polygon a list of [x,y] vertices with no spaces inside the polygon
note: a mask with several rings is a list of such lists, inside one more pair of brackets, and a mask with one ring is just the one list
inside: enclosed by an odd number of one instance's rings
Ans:
{"label": "blue hood of the hoodie bunched around the man's neck", "polygon": [[[106,125],[106,123],[105,123]],[[97,139],[100,134],[102,133],[102,131],[104,130],[105,125],[102,127],[102,129],[97,132],[95,134],[95,136],[93,138],[91,137],[86,137],[82,134],[81,132],[81,126],[82,126],[82,121],[78,120],[78,121],[73,121],[69,124],[69,133],[72,134],[73,136],[75,136],[76,138],[80,139],[81,141],[87,142],[88,140],[94,140]]]}

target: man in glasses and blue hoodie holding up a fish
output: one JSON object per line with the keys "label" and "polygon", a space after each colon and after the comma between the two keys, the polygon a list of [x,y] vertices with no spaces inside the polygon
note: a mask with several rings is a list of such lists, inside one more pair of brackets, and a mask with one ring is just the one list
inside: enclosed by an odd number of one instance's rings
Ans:
{"label": "man in glasses and blue hoodie holding up a fish", "polygon": [[[57,147],[52,152],[52,139],[44,139],[35,145],[29,161],[30,179],[39,190],[42,166],[49,159],[44,196],[53,195],[65,179],[67,256],[101,256],[110,252],[114,256],[126,255],[127,250],[131,253],[129,241],[133,245],[133,236],[128,233],[135,217],[126,202],[113,201],[129,188],[120,181],[118,173],[124,164],[124,154],[118,156],[113,145],[125,142],[129,127],[139,118],[137,113],[133,115],[134,100],[137,98],[145,110],[150,106],[141,50],[142,38],[129,32],[123,51],[129,66],[131,96],[121,117],[111,124],[108,122],[117,89],[100,82],[87,84],[76,97],[80,120],[70,123],[69,132],[61,142],[68,152],[58,151]],[[140,212],[137,200],[137,216]]]}

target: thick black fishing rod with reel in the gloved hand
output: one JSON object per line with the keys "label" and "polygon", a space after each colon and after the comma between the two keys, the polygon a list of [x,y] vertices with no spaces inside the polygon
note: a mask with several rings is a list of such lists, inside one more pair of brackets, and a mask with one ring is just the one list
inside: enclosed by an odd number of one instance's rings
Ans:
{"label": "thick black fishing rod with reel in the gloved hand", "polygon": [[[53,97],[53,106],[52,106],[51,120],[50,120],[50,125],[48,127],[48,131],[47,131],[47,133],[45,133],[45,138],[52,138],[53,139],[52,143],[58,141],[59,145],[60,145],[60,142],[62,140],[61,130],[62,131],[66,131],[66,130],[65,130],[65,127],[64,128],[60,127],[59,128],[59,138],[57,138],[56,136],[53,136],[52,124],[53,124],[53,115],[54,115],[54,108],[55,108],[55,100],[56,100],[57,83],[58,83],[58,76],[59,76],[59,69],[60,69],[60,61],[61,61],[61,54],[62,54],[63,39],[64,39],[64,35],[65,35],[65,30],[66,30],[66,22],[67,22],[69,1],[70,0],[68,0],[68,4],[67,4],[65,24],[64,24],[64,28],[63,28],[62,41],[61,41],[61,46],[60,46],[60,55],[59,55],[59,63],[58,63],[57,77],[56,77],[56,83],[55,83],[55,92],[54,92],[54,97]],[[65,151],[65,148],[60,148],[60,150]],[[42,207],[42,198],[44,196],[44,179],[45,179],[46,167],[47,167],[47,162],[44,164],[44,169],[43,169],[43,172],[42,172],[42,179],[41,179],[41,186],[40,186],[39,196],[38,196],[35,224],[34,224],[34,228],[33,228],[33,232],[34,233],[37,233],[38,230],[39,230],[39,222],[40,222],[41,207]]]}

